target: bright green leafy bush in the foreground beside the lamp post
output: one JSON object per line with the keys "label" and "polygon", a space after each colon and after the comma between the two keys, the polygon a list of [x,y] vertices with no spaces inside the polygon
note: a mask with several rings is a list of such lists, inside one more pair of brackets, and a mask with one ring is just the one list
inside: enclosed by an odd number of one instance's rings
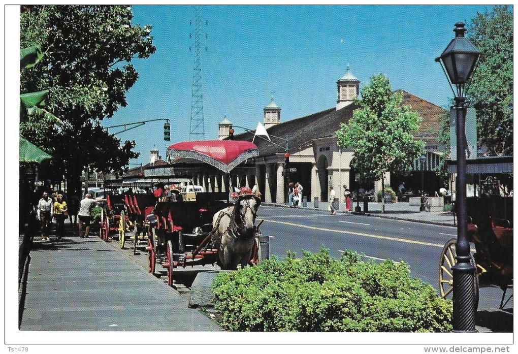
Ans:
{"label": "bright green leafy bush in the foreground beside the lamp post", "polygon": [[322,248],[288,253],[212,284],[220,324],[231,331],[448,332],[452,303],[409,276],[404,262],[338,260]]}

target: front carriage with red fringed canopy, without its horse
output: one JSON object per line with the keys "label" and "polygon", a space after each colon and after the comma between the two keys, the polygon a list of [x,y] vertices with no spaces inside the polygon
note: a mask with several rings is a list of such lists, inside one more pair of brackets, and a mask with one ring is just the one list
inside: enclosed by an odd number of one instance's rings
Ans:
{"label": "front carriage with red fringed canopy, without its horse", "polygon": [[[248,141],[191,141],[172,145],[169,153],[209,163],[228,173],[240,162],[257,155],[257,147]],[[223,217],[218,219],[215,215],[221,214],[226,218],[228,214],[224,210],[237,210],[241,202],[250,205],[248,199],[255,196],[250,189],[241,189],[234,197],[236,207],[231,203],[229,192],[201,192],[196,193],[191,201],[167,200],[157,203],[154,214],[148,215],[145,222],[149,271],[159,273],[156,269],[156,264],[159,264],[167,272],[168,284],[172,285],[180,273],[197,274],[220,268],[224,263],[220,259],[221,240],[216,236],[217,226]],[[255,208],[254,222],[256,211]],[[231,220],[239,221],[232,216]],[[250,254],[245,256],[248,264],[256,264],[261,258],[258,239],[260,224],[253,223],[252,226],[253,247]]]}

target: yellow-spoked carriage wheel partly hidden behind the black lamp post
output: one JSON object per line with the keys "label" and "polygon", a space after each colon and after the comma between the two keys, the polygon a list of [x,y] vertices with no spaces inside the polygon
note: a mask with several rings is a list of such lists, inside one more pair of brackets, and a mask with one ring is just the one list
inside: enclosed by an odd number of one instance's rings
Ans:
{"label": "yellow-spoked carriage wheel partly hidden behind the black lamp post", "polygon": [[[441,298],[452,299],[453,297],[453,266],[457,263],[457,252],[455,251],[455,244],[457,240],[451,238],[444,245],[441,252],[441,263],[439,267],[439,290],[441,292]],[[477,264],[473,259],[473,256],[469,256],[470,263],[475,267],[474,276],[474,290],[475,290],[475,308],[478,308],[479,304],[479,277],[477,275]]]}

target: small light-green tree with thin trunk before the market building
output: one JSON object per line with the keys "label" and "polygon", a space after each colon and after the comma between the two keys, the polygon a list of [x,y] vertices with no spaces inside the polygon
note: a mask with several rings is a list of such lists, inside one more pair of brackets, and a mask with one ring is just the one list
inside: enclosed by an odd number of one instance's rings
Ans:
{"label": "small light-green tree with thin trunk before the market building", "polygon": [[[380,180],[385,195],[383,175],[387,172],[409,173],[412,163],[423,151],[423,143],[414,140],[422,118],[408,105],[402,95],[392,92],[389,78],[383,74],[370,79],[361,92],[359,105],[348,123],[341,123],[336,132],[338,146],[351,148],[351,163],[364,179]],[[382,198],[382,212],[385,201]]]}

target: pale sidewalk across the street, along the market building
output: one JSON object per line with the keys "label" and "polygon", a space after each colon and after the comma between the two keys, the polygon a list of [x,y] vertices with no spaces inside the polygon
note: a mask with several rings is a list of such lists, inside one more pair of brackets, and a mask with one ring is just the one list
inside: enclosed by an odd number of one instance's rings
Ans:
{"label": "pale sidewalk across the street, along the market building", "polygon": [[[279,203],[263,203],[262,205],[288,207],[287,204]],[[338,206],[338,214],[354,214],[357,203],[351,203],[351,211],[344,210],[344,203],[340,203]],[[307,206],[301,206],[302,209],[312,210],[324,210],[328,211],[328,202],[319,202],[315,208],[314,203],[307,203]],[[368,211],[364,213],[364,203],[360,202],[359,207],[362,209],[362,213],[367,216],[379,217],[379,218],[390,218],[397,220],[406,220],[413,222],[421,222],[428,224],[444,225],[444,226],[456,226],[456,217],[454,217],[452,211],[419,211],[419,206],[409,205],[408,202],[396,202],[396,203],[385,203],[385,213],[381,212],[381,203],[369,202]]]}

